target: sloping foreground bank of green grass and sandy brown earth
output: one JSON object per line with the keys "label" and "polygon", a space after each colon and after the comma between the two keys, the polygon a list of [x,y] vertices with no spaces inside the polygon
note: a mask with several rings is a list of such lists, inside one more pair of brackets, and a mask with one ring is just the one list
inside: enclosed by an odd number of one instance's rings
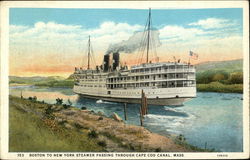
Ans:
{"label": "sloping foreground bank of green grass and sandy brown earth", "polygon": [[36,99],[10,96],[9,151],[196,152],[181,138],[164,137],[147,129]]}

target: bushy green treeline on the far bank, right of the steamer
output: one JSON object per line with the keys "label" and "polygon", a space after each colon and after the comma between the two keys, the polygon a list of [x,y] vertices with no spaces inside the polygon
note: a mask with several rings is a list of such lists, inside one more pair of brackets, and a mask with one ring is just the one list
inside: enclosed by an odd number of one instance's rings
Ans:
{"label": "bushy green treeline on the far bank, right of the steamer", "polygon": [[220,82],[222,84],[243,84],[243,72],[226,72],[207,70],[196,74],[197,84]]}

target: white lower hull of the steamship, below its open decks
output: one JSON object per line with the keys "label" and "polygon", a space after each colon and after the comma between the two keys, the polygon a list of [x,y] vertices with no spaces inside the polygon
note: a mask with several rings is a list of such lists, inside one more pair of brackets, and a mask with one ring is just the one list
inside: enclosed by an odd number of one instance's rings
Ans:
{"label": "white lower hull of the steamship, below its open decks", "polygon": [[[75,86],[74,92],[81,97],[101,99],[110,102],[120,103],[141,103],[141,90],[92,90]],[[196,87],[183,87],[183,88],[165,88],[165,89],[144,89],[143,90],[148,98],[147,102],[150,105],[169,105],[180,106],[184,102],[196,97]],[[110,93],[110,94],[105,94]],[[168,94],[166,94],[168,93]]]}

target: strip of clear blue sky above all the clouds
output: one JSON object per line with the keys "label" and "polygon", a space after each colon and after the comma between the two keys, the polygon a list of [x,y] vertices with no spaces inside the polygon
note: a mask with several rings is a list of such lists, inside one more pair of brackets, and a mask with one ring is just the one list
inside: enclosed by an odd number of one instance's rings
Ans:
{"label": "strip of clear blue sky above all the clouds", "polygon": [[[54,21],[60,24],[83,25],[97,27],[105,21],[121,23],[145,24],[148,10],[145,9],[48,9],[48,8],[12,8],[10,24],[34,25],[38,21]],[[152,9],[153,24],[186,25],[206,18],[223,18],[239,21],[242,27],[242,9]]]}

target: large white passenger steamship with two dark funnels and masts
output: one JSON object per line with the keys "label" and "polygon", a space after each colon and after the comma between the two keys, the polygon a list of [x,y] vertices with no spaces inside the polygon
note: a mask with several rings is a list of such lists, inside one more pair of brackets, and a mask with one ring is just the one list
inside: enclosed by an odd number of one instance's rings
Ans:
{"label": "large white passenger steamship with two dark funnels and masts", "polygon": [[[75,68],[73,91],[82,97],[122,103],[141,103],[144,91],[151,105],[179,106],[196,97],[195,68],[190,63],[148,62],[150,20],[147,25],[147,61],[128,67],[120,65],[120,54],[105,54],[103,64],[87,69]],[[90,38],[88,41],[90,46]]]}

